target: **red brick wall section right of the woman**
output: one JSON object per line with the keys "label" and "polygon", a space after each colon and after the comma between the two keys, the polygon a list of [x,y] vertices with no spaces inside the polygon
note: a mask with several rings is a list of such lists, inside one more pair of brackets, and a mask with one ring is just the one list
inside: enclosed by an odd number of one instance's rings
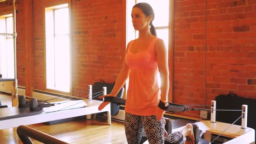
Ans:
{"label": "red brick wall section right of the woman", "polygon": [[256,98],[255,0],[176,1],[174,21],[174,102]]}

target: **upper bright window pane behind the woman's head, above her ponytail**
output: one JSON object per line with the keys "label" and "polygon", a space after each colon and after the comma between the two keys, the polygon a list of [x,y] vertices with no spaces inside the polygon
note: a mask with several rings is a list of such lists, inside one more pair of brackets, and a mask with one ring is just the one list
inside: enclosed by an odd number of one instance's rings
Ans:
{"label": "upper bright window pane behind the woman's head, above her ponytail", "polygon": [[153,25],[155,27],[168,26],[169,24],[169,0],[137,0],[137,3],[146,2],[151,5],[155,13]]}

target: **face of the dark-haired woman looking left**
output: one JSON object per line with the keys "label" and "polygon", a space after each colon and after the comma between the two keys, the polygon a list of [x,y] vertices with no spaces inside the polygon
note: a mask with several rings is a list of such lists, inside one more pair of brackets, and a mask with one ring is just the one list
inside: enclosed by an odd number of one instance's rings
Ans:
{"label": "face of the dark-haired woman looking left", "polygon": [[132,13],[132,25],[135,30],[140,30],[148,28],[149,26],[149,16],[147,17],[140,8],[133,8]]}

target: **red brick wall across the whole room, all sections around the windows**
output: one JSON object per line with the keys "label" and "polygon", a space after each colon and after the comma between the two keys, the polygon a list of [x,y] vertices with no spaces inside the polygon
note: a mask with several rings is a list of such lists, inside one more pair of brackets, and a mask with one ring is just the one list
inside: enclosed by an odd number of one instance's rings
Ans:
{"label": "red brick wall across the whole room, all sections around the windows", "polygon": [[[25,1],[16,0],[19,86],[25,86],[26,77]],[[46,90],[44,7],[66,1],[33,2],[34,88]],[[125,53],[124,1],[72,0],[71,4],[73,91],[101,79],[114,82]],[[180,0],[174,8],[174,103],[209,105],[218,94],[229,92],[255,99],[256,1]],[[0,3],[0,14],[11,9]],[[198,111],[181,115],[198,117]]]}

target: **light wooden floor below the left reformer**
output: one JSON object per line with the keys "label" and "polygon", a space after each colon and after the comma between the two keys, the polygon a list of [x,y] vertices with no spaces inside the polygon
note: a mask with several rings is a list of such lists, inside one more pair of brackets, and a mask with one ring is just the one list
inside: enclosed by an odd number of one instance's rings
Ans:
{"label": "light wooden floor below the left reformer", "polygon": [[[10,97],[0,94],[2,105],[11,106]],[[27,125],[33,129],[42,131],[68,143],[127,143],[124,131],[124,123],[112,121],[107,125],[104,118],[91,120],[79,120],[54,125],[43,123]],[[40,143],[32,140],[34,143]],[[22,143],[16,134],[16,128],[0,130],[0,143]]]}

